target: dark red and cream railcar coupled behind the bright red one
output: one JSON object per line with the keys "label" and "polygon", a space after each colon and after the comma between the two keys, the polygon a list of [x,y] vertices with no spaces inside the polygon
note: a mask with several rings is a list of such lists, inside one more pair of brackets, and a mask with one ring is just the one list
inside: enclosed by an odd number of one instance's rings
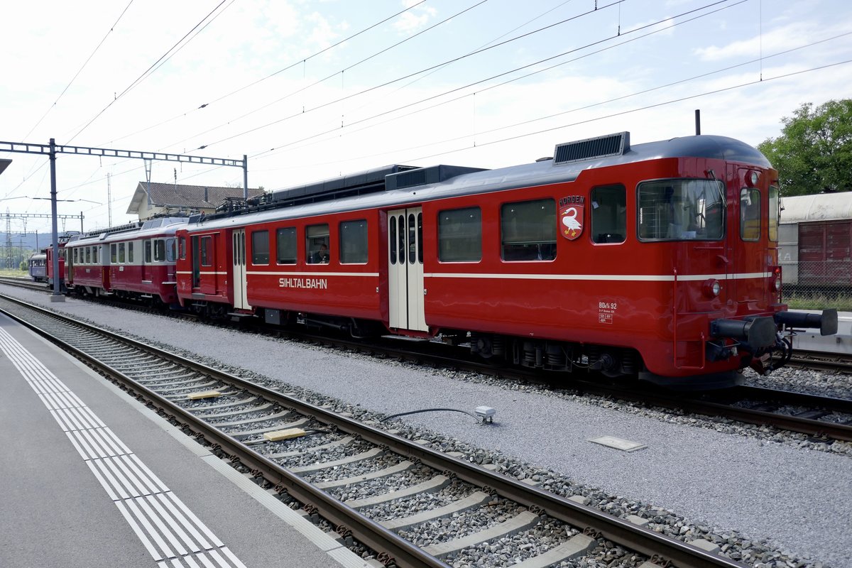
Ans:
{"label": "dark red and cream railcar coupled behind the bright red one", "polygon": [[72,238],[66,244],[69,290],[176,303],[175,231],[186,221],[161,217]]}

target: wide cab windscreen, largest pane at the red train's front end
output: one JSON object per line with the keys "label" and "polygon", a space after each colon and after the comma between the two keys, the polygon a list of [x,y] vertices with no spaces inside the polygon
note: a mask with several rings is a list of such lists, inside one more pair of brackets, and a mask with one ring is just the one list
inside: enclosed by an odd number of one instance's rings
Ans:
{"label": "wide cab windscreen, largest pane at the red train's front end", "polygon": [[725,234],[722,181],[645,181],[638,196],[636,225],[642,241],[715,241]]}

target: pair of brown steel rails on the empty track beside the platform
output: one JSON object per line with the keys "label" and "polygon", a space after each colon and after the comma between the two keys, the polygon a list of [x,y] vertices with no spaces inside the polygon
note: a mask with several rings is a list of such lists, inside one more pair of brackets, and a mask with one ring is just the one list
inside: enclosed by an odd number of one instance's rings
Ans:
{"label": "pair of brown steel rails on the empty track beside the platform", "polygon": [[[577,502],[568,500],[565,497],[557,496],[549,491],[544,491],[527,484],[523,484],[516,479],[509,478],[499,473],[494,473],[481,468],[475,464],[464,461],[454,456],[448,456],[443,452],[432,450],[423,447],[410,440],[389,434],[376,427],[363,424],[346,416],[340,416],[330,410],[325,410],[304,402],[299,399],[294,399],[282,393],[276,393],[267,387],[262,387],[253,382],[241,379],[238,376],[229,375],[223,371],[216,370],[208,365],[200,364],[191,359],[184,359],[179,355],[168,353],[158,347],[153,347],[141,341],[130,340],[128,338],[118,336],[110,331],[103,330],[95,325],[84,324],[82,322],[73,321],[72,318],[66,318],[60,314],[50,312],[42,307],[28,304],[25,301],[9,298],[22,306],[31,308],[39,313],[46,313],[51,317],[72,322],[85,329],[94,331],[95,333],[103,334],[115,341],[121,341],[130,344],[133,347],[143,349],[149,353],[153,353],[185,365],[200,373],[204,373],[211,377],[218,377],[224,382],[230,382],[240,388],[244,388],[250,393],[262,396],[272,400],[283,406],[289,406],[296,411],[312,416],[319,422],[338,427],[347,433],[359,435],[363,439],[370,441],[376,445],[385,445],[391,450],[402,456],[409,456],[417,459],[425,465],[435,468],[439,471],[452,472],[458,477],[473,485],[490,488],[498,495],[504,496],[512,501],[518,502],[537,512],[538,514],[547,513],[555,519],[560,519],[570,525],[584,527],[590,529],[596,535],[603,536],[608,540],[617,542],[625,548],[630,548],[636,552],[646,554],[649,557],[658,559],[658,561],[668,560],[672,565],[682,568],[743,568],[743,565],[732,559],[728,559],[717,554],[708,553],[705,550],[694,547],[691,544],[682,542],[665,536],[657,532],[646,529],[642,526],[634,525],[625,519],[619,519],[608,513],[603,513],[595,508],[590,508],[581,505]],[[77,354],[83,359],[91,360],[85,353],[75,347],[67,345],[59,338],[49,335],[43,330],[39,330],[34,324],[15,318],[27,327],[37,331],[37,333],[46,336],[50,341],[55,341],[61,347],[69,349],[72,353]],[[353,536],[364,542],[371,548],[387,552],[400,566],[436,566],[444,568],[447,565],[440,559],[426,554],[421,548],[416,547],[410,542],[406,542],[393,532],[388,531],[383,526],[366,519],[354,509],[349,508],[343,502],[337,501],[325,491],[321,491],[308,484],[303,479],[293,473],[290,473],[285,468],[282,468],[277,463],[268,460],[264,456],[256,454],[247,445],[242,444],[231,436],[222,433],[216,428],[211,427],[199,419],[195,418],[187,410],[182,409],[168,399],[154,393],[147,387],[142,387],[132,381],[129,376],[113,370],[107,364],[95,363],[97,368],[106,372],[110,376],[117,376],[122,382],[129,382],[129,387],[143,397],[150,399],[154,404],[161,407],[165,412],[171,414],[177,421],[187,424],[193,431],[200,433],[204,438],[219,445],[227,454],[239,456],[249,468],[254,472],[260,473],[270,483],[284,487],[292,496],[299,501],[308,505],[313,505],[319,511],[320,515],[329,519],[333,524],[346,527],[352,531]]]}

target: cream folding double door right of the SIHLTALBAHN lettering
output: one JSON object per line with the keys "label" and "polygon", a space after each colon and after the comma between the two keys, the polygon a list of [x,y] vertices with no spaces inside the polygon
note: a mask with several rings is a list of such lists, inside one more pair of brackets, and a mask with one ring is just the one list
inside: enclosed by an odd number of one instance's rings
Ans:
{"label": "cream folding double door right of the SIHLTALBAHN lettering", "polygon": [[429,331],[423,297],[423,208],[388,212],[389,327]]}

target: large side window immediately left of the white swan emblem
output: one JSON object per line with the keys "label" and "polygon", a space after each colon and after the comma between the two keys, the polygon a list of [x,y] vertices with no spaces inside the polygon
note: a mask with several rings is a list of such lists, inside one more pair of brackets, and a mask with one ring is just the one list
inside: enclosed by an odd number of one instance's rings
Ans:
{"label": "large side window immediately left of the white swan emblem", "polygon": [[556,201],[504,204],[500,238],[504,261],[552,261],[556,258]]}

